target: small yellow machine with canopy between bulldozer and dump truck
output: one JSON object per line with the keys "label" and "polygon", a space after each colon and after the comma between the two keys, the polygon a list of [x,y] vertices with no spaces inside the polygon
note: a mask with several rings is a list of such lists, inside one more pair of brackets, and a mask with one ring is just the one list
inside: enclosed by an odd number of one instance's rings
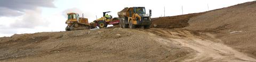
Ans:
{"label": "small yellow machine with canopy between bulldozer and dump truck", "polygon": [[106,15],[106,13],[109,13],[109,12],[103,12],[103,16],[97,20],[94,20],[93,23],[95,23],[96,26],[98,26],[99,28],[104,28],[104,27],[107,27],[108,25],[119,24],[118,17],[113,18],[111,15]]}

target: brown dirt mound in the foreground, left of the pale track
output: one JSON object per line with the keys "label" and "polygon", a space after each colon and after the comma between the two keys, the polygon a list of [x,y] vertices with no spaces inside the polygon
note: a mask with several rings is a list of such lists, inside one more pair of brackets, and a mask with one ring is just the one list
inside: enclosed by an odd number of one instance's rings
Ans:
{"label": "brown dirt mound in the foreground, left of the pale track", "polygon": [[0,38],[0,61],[179,61],[193,52],[158,39],[122,28],[16,34]]}

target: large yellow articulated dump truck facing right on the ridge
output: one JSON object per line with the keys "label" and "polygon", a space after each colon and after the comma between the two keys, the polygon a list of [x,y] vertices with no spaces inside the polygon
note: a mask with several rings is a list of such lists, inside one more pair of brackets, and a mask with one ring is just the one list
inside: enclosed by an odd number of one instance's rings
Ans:
{"label": "large yellow articulated dump truck facing right on the ridge", "polygon": [[150,28],[151,10],[146,14],[145,7],[126,7],[118,12],[119,26],[121,28]]}

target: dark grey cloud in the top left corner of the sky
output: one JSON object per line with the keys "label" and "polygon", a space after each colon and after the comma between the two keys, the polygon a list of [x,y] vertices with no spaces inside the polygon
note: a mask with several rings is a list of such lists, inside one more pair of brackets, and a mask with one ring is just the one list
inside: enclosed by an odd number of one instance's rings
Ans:
{"label": "dark grey cloud in the top left corner of the sky", "polygon": [[0,0],[1,16],[19,16],[38,7],[55,7],[54,0]]}

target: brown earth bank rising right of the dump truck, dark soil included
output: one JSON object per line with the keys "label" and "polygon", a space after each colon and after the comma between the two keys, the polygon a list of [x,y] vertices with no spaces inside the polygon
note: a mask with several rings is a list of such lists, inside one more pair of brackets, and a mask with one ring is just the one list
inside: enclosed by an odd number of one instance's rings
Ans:
{"label": "brown earth bank rising right of the dump truck, dark soil included", "polygon": [[151,27],[187,29],[256,58],[255,10],[253,1],[203,13],[153,18]]}

